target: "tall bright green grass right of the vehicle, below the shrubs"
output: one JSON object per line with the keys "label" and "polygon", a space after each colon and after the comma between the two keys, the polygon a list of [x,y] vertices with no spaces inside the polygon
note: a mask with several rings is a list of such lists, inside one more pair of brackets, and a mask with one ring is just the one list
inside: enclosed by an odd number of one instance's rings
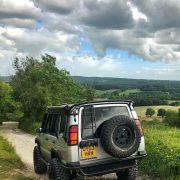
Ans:
{"label": "tall bright green grass right of the vehicle, below the shrubs", "polygon": [[180,178],[180,129],[161,122],[142,122],[148,156],[140,163],[140,170],[154,178]]}

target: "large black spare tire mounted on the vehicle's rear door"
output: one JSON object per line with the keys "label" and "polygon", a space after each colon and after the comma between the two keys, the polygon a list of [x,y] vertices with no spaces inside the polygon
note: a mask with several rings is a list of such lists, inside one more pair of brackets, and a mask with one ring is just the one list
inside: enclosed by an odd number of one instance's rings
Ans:
{"label": "large black spare tire mounted on the vehicle's rear door", "polygon": [[102,125],[100,141],[108,154],[124,158],[138,150],[141,135],[133,119],[128,116],[115,116]]}

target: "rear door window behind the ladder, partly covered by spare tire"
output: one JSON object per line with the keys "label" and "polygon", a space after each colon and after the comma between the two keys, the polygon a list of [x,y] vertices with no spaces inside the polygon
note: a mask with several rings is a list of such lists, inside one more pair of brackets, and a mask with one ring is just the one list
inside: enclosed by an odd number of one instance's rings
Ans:
{"label": "rear door window behind the ladder, partly covered by spare tire", "polygon": [[82,139],[93,139],[99,125],[118,115],[129,116],[126,106],[85,108],[82,111]]}

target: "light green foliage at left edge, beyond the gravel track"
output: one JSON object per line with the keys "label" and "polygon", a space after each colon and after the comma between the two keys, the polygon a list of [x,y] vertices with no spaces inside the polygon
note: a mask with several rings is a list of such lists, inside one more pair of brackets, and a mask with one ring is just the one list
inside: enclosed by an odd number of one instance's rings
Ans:
{"label": "light green foliage at left edge, beyond the gravel track", "polygon": [[17,121],[22,117],[21,104],[12,98],[12,87],[0,82],[0,122]]}

